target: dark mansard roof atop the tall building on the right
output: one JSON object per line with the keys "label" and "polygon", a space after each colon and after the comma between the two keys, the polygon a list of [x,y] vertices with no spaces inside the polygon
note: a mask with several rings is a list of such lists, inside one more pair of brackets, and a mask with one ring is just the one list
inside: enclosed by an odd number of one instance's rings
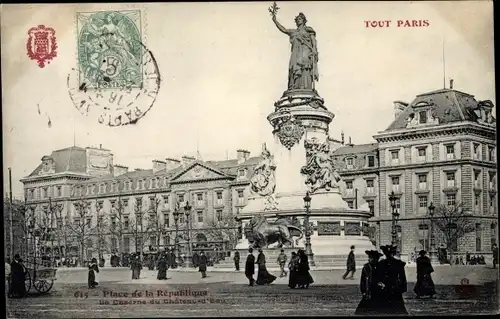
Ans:
{"label": "dark mansard roof atop the tall building on the right", "polygon": [[439,124],[453,122],[476,122],[478,116],[474,112],[478,101],[473,95],[452,89],[441,89],[417,95],[416,98],[397,116],[385,131],[406,128],[412,114],[418,112],[419,106],[428,106]]}

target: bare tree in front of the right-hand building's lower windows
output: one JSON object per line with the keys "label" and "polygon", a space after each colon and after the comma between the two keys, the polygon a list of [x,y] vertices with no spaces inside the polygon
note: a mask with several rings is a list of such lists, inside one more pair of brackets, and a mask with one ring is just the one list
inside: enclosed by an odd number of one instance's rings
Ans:
{"label": "bare tree in front of the right-hand building's lower windows", "polygon": [[443,234],[450,256],[458,250],[458,240],[475,229],[474,220],[470,215],[470,212],[458,203],[436,207],[432,222]]}

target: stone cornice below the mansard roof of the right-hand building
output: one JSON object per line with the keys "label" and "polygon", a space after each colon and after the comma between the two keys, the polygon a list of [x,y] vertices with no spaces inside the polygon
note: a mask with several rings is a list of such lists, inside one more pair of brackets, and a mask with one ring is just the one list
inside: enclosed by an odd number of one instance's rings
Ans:
{"label": "stone cornice below the mansard roof of the right-hand building", "polygon": [[419,140],[429,137],[441,137],[457,134],[477,135],[480,137],[486,137],[490,140],[495,140],[496,127],[475,122],[458,122],[446,125],[404,128],[387,132],[379,132],[378,134],[373,135],[373,138],[378,143],[387,143],[400,140]]}

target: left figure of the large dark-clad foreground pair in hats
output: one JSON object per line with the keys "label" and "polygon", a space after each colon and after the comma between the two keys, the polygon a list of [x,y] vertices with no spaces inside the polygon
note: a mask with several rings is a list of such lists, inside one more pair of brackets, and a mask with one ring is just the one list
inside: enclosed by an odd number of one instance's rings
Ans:
{"label": "left figure of the large dark-clad foreground pair in hats", "polygon": [[364,264],[361,270],[361,281],[359,288],[361,290],[361,301],[354,312],[355,315],[375,315],[380,312],[380,294],[381,287],[379,282],[378,263],[382,256],[377,250],[365,250],[368,255],[368,262]]}

